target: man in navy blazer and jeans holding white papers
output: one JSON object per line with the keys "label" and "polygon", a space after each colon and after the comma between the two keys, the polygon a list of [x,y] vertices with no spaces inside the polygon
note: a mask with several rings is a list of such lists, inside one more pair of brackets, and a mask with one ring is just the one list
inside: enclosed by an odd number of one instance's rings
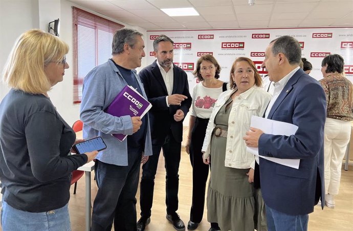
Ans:
{"label": "man in navy blazer and jeans holding white papers", "polygon": [[263,66],[274,82],[265,118],[298,126],[294,135],[264,134],[251,128],[244,137],[259,155],[300,159],[299,169],[260,158],[259,171],[269,231],[307,230],[308,214],[324,201],[323,137],[326,99],[320,83],[299,68],[301,49],[290,36],[273,40]]}

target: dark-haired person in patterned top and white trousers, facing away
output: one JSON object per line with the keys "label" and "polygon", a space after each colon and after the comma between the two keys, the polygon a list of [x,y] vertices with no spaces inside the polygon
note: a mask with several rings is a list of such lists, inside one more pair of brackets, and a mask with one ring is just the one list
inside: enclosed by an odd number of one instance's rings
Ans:
{"label": "dark-haired person in patterned top and white trousers, facing away", "polygon": [[325,205],[335,207],[339,192],[344,153],[350,139],[350,121],[353,120],[353,85],[343,76],[344,60],[338,54],[326,56],[321,62],[326,94],[325,122]]}

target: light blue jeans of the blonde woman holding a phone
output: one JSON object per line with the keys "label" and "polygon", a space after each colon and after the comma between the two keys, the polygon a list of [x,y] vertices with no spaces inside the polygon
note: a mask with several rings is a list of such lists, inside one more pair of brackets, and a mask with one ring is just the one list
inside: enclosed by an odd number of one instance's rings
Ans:
{"label": "light blue jeans of the blonde woman holding a phone", "polygon": [[3,201],[3,231],[71,231],[68,204],[42,213],[18,210]]}

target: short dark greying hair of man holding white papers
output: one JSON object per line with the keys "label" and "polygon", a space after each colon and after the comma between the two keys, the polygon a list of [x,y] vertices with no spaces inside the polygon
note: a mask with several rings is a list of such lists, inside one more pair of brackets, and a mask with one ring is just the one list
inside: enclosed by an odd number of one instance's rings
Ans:
{"label": "short dark greying hair of man holding white papers", "polygon": [[283,53],[288,58],[290,65],[299,65],[301,60],[301,48],[297,39],[285,35],[271,41],[272,53],[277,55]]}

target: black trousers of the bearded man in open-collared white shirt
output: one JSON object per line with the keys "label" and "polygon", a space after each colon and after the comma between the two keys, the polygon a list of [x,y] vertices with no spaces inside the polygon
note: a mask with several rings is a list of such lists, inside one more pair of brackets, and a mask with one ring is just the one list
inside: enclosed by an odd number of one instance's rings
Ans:
{"label": "black trousers of the bearded man in open-collared white shirt", "polygon": [[163,150],[166,170],[166,198],[167,214],[174,214],[178,210],[178,190],[179,190],[179,164],[181,155],[181,142],[175,141],[171,131],[169,131],[164,144],[153,145],[153,155],[149,157],[147,163],[142,166],[142,178],[140,185],[140,207],[141,216],[150,217],[153,202],[153,190],[155,188],[155,176],[157,172],[158,159]]}

